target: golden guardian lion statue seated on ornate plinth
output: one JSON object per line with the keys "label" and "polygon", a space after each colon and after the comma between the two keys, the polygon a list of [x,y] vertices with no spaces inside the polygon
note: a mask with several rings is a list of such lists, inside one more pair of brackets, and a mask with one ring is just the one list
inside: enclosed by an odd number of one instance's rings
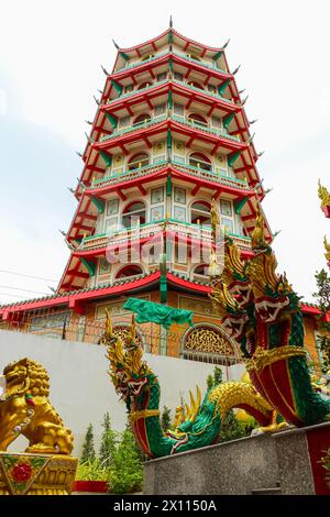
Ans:
{"label": "golden guardian lion statue seated on ornate plinth", "polygon": [[25,358],[3,370],[0,398],[0,451],[20,435],[29,440],[26,452],[70,454],[74,438],[48,400],[50,377],[38,363]]}

